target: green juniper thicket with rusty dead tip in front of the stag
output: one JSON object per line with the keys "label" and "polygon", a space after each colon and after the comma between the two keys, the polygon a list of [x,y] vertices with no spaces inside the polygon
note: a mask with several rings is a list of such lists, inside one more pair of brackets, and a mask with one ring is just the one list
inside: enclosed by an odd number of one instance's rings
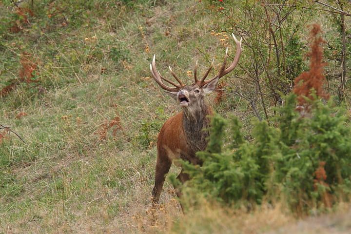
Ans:
{"label": "green juniper thicket with rusty dead tip in front of the stag", "polygon": [[299,215],[350,198],[351,129],[346,109],[327,102],[319,32],[313,25],[310,71],[282,96],[284,105],[271,124],[254,121],[252,142],[243,139],[237,117],[212,117],[208,148],[197,154],[203,166],[184,163],[193,178],[186,193],[248,208],[280,201]]}

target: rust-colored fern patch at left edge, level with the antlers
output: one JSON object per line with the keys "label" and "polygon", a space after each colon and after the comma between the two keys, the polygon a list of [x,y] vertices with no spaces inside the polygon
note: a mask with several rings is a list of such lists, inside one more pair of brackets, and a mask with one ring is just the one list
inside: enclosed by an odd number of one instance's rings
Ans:
{"label": "rust-colored fern patch at left edge, level with the antlers", "polygon": [[1,98],[9,94],[16,87],[16,85],[20,84],[21,82],[38,82],[38,80],[32,79],[34,77],[33,72],[37,69],[38,64],[37,62],[32,61],[32,55],[28,53],[22,53],[20,64],[22,68],[19,71],[19,77],[10,79],[10,83],[0,90]]}

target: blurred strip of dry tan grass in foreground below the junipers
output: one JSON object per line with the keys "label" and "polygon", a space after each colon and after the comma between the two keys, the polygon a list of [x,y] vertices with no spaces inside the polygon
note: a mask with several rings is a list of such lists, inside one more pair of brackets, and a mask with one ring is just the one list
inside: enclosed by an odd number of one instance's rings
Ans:
{"label": "blurred strip of dry tan grass in foreground below the junipers", "polygon": [[168,234],[347,234],[351,231],[350,218],[348,204],[340,204],[337,211],[328,215],[296,218],[279,205],[248,212],[206,201],[198,209],[179,215],[173,200],[157,212],[148,210],[133,217],[139,232]]}

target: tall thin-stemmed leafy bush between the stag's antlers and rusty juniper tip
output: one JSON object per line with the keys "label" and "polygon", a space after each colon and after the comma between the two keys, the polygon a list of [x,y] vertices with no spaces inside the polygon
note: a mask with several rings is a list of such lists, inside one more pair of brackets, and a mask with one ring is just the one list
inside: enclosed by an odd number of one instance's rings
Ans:
{"label": "tall thin-stemmed leafy bush between the stag's antlers and rusty juniper tip", "polygon": [[268,4],[229,0],[216,1],[215,5],[214,35],[242,36],[247,51],[240,59],[244,69],[236,71],[238,77],[245,79],[245,88],[235,81],[229,82],[230,90],[251,103],[256,117],[268,119],[268,107],[283,104],[280,93],[289,93],[294,78],[306,67],[302,59],[304,43],[298,35],[316,13],[300,1]]}

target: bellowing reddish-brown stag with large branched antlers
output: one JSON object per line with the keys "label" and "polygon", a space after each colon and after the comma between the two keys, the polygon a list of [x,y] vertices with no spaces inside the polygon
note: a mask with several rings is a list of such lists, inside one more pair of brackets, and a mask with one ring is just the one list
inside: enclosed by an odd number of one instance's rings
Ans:
{"label": "bellowing reddish-brown stag with large branched antlers", "polygon": [[[169,70],[179,84],[162,77],[156,69],[156,55],[154,55],[154,59],[150,64],[151,75],[156,83],[179,103],[182,107],[182,111],[176,116],[170,117],[166,120],[158,134],[155,186],[152,190],[151,198],[153,205],[158,203],[165,178],[172,166],[172,162],[176,166],[181,167],[179,159],[182,159],[195,165],[202,166],[203,161],[196,156],[196,152],[204,151],[207,148],[209,137],[208,128],[210,125],[209,116],[213,116],[211,107],[205,103],[205,95],[215,91],[218,80],[230,73],[236,67],[243,51],[241,49],[242,38],[237,40],[234,34],[232,35],[236,43],[236,52],[232,64],[226,68],[228,57],[227,48],[223,64],[218,74],[214,78],[205,80],[213,67],[213,60],[209,69],[199,80],[197,79],[196,61],[194,70],[195,82],[191,85],[185,85],[176,76],[171,67],[169,67]],[[167,86],[162,80],[175,87]],[[177,179],[183,184],[188,181],[190,177],[182,168]],[[177,191],[176,194],[178,197],[181,196],[179,191]]]}

